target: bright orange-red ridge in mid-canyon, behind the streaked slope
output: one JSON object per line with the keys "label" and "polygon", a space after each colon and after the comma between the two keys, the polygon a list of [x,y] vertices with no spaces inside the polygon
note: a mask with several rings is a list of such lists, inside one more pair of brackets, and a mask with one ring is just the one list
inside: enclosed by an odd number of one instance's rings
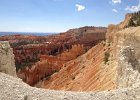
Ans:
{"label": "bright orange-red ridge in mid-canyon, behind the streaked slope", "polygon": [[82,45],[73,45],[72,49],[63,52],[58,56],[41,55],[39,62],[31,68],[26,67],[24,70],[19,70],[17,75],[26,83],[34,85],[43,78],[58,72],[64,66],[64,63],[77,58],[83,53],[84,48]]}

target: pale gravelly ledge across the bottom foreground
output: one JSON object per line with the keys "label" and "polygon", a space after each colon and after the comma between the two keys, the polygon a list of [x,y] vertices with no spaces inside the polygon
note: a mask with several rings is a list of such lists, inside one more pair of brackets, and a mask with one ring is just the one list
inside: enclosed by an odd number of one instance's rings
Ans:
{"label": "pale gravelly ledge across the bottom foreground", "polygon": [[68,92],[30,87],[0,73],[0,100],[140,100],[140,87],[103,92]]}

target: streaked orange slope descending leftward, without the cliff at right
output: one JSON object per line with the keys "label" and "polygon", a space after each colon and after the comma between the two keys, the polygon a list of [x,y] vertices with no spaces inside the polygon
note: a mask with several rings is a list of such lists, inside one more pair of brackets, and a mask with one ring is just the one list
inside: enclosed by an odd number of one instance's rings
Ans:
{"label": "streaked orange slope descending leftward, without the cliff at right", "polygon": [[96,45],[86,54],[66,63],[58,73],[44,81],[42,87],[68,91],[116,88],[116,67],[106,65],[104,61],[104,55],[109,51],[110,47],[104,43]]}

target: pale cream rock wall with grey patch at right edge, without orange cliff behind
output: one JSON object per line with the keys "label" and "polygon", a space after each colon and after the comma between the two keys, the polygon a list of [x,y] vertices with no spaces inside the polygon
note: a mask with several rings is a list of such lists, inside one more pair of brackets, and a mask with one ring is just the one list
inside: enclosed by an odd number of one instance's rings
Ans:
{"label": "pale cream rock wall with grey patch at right edge, without orange cliff behind", "polygon": [[130,27],[119,31],[118,40],[118,83],[120,88],[140,83],[140,27]]}

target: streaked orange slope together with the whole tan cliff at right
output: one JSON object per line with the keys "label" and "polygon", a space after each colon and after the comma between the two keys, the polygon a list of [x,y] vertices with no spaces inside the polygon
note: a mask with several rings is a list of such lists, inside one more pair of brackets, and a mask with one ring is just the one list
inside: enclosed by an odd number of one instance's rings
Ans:
{"label": "streaked orange slope together with the whole tan cliff at right", "polygon": [[[140,27],[129,27],[127,15],[109,27],[107,40],[41,82],[42,88],[68,91],[102,91],[138,86],[140,71]],[[110,29],[111,28],[111,29]],[[111,37],[109,37],[111,36]]]}

